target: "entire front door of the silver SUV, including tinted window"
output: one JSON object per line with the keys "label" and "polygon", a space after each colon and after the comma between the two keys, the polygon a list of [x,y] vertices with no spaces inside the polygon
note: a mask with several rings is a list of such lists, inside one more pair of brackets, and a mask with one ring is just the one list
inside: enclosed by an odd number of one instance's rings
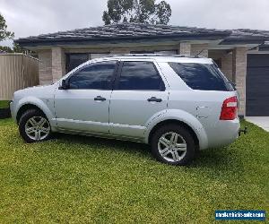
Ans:
{"label": "entire front door of the silver SUV, including tinted window", "polygon": [[108,107],[116,61],[83,66],[56,90],[56,122],[60,129],[108,134]]}

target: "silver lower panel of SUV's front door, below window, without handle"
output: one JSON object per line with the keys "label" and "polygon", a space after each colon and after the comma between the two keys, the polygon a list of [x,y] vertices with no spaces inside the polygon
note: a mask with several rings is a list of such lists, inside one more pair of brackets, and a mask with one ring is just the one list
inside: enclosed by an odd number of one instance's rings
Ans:
{"label": "silver lower panel of SUV's front door, below window, without handle", "polygon": [[[59,128],[108,133],[111,90],[56,90],[56,122]],[[101,96],[105,101],[94,100]]]}

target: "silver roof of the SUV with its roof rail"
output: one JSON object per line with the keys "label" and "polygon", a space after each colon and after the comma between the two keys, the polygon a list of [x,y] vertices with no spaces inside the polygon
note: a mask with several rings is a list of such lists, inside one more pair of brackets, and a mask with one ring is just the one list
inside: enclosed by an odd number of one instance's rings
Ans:
{"label": "silver roof of the SUV with its roof rail", "polygon": [[127,54],[127,55],[111,55],[100,59],[103,60],[155,60],[157,62],[178,62],[178,63],[197,63],[197,64],[213,64],[211,58],[202,56],[185,56],[185,55],[163,55],[163,54]]}

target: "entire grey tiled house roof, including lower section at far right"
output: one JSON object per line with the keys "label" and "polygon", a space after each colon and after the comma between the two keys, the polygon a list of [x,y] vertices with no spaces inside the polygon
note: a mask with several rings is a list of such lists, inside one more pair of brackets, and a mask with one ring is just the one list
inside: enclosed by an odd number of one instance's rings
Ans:
{"label": "entire grey tiled house roof, including lower section at far right", "polygon": [[269,40],[269,30],[216,30],[186,26],[152,25],[143,23],[115,23],[99,27],[90,27],[76,30],[58,31],[55,33],[40,34],[28,38],[17,39],[15,42],[42,43],[44,41],[96,40],[96,39],[143,39],[143,38],[169,38],[169,37],[218,37],[224,39],[222,44],[237,41],[265,41]]}

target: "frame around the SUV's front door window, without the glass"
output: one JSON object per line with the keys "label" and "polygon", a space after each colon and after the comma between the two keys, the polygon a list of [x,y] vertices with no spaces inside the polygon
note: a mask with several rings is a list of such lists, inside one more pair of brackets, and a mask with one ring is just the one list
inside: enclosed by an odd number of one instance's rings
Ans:
{"label": "frame around the SUV's front door window, without the glass", "polygon": [[72,76],[74,76],[76,73],[79,73],[80,71],[82,71],[82,69],[84,69],[87,66],[92,66],[92,65],[97,65],[97,64],[102,64],[102,63],[109,63],[109,62],[115,62],[115,69],[112,73],[112,77],[111,77],[111,82],[108,84],[108,88],[107,89],[72,89],[69,88],[68,90],[113,90],[113,86],[117,77],[117,72],[118,72],[118,68],[119,68],[119,64],[120,62],[116,59],[116,60],[105,60],[105,61],[98,61],[98,62],[93,62],[87,65],[83,65],[82,67],[74,70],[73,73],[71,73],[70,75],[68,75],[68,77],[65,79],[66,82],[68,84],[70,84],[70,79]]}

